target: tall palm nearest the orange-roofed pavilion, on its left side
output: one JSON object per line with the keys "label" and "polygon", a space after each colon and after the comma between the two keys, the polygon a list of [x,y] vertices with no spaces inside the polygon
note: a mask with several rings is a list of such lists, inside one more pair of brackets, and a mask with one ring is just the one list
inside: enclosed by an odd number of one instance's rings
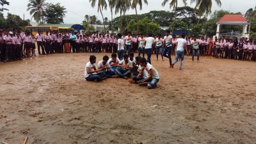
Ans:
{"label": "tall palm nearest the orange-roofed pavilion, on its left side", "polygon": [[[215,1],[218,4],[218,6],[221,6],[220,0],[215,0]],[[196,24],[196,26],[198,26],[202,15],[204,15],[204,13],[205,15],[209,15],[212,12],[212,0],[191,0],[191,3],[195,3],[195,2],[196,2],[195,10],[197,9],[197,12],[199,15],[199,19]]]}

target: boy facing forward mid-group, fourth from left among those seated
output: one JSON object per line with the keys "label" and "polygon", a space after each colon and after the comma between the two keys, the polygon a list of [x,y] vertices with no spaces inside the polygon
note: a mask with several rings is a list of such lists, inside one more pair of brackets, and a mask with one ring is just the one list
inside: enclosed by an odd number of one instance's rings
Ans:
{"label": "boy facing forward mid-group, fourth from left among those seated", "polygon": [[119,63],[119,68],[116,68],[115,70],[118,76],[124,79],[127,79],[131,74],[132,61],[128,60],[128,58],[128,54],[124,54],[124,60]]}

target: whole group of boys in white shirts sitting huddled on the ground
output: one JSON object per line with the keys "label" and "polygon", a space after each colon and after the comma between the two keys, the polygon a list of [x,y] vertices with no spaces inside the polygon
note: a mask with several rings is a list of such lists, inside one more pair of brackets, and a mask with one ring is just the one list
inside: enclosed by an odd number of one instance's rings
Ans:
{"label": "whole group of boys in white shirts sitting huddled on the ground", "polygon": [[138,84],[139,86],[147,86],[148,89],[156,88],[159,81],[159,74],[150,63],[147,63],[145,58],[136,56],[131,52],[124,54],[124,60],[120,61],[116,58],[116,54],[111,54],[111,58],[103,56],[103,59],[99,61],[96,68],[96,57],[90,56],[90,61],[86,63],[84,69],[84,77],[86,81],[99,82],[108,78],[121,77],[128,79],[132,77],[129,83]]}

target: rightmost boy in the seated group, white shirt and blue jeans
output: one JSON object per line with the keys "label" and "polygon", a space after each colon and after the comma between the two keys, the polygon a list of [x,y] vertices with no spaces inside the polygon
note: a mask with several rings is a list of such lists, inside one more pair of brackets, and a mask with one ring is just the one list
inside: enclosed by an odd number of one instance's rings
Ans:
{"label": "rightmost boy in the seated group, white shirt and blue jeans", "polygon": [[145,67],[145,70],[148,72],[148,77],[140,81],[139,86],[148,86],[148,89],[155,88],[160,78],[156,68],[154,68],[150,63],[147,63],[145,58],[140,58],[139,61],[140,66]]}

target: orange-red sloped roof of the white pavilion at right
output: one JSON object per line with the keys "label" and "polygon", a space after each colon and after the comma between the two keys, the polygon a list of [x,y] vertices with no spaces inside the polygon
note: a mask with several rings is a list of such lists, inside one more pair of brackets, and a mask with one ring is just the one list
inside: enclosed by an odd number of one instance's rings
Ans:
{"label": "orange-red sloped roof of the white pavilion at right", "polygon": [[216,24],[248,25],[250,22],[244,19],[243,15],[224,15]]}

